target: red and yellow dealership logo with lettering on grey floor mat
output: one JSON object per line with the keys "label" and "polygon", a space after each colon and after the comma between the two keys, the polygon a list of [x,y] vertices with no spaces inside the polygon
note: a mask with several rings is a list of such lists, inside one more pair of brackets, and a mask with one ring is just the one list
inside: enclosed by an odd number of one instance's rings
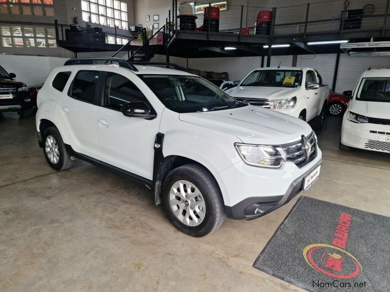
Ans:
{"label": "red and yellow dealership logo with lettering on grey floor mat", "polygon": [[339,279],[356,277],[361,264],[345,250],[352,216],[341,213],[332,244],[314,243],[303,249],[303,257],[314,270]]}

